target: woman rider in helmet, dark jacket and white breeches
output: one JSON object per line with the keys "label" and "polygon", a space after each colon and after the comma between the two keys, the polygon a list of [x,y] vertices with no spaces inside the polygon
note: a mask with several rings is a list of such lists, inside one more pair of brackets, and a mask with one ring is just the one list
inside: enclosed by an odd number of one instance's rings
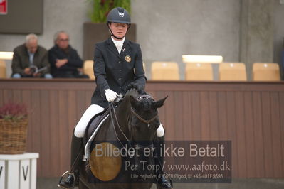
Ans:
{"label": "woman rider in helmet, dark jacket and white breeches", "polygon": [[[72,188],[78,180],[80,162],[82,161],[83,136],[90,119],[102,112],[113,102],[118,94],[124,94],[127,86],[132,84],[138,91],[144,91],[146,77],[144,76],[142,53],[140,45],[125,38],[130,28],[129,13],[120,7],[112,9],[107,15],[107,26],[110,38],[95,45],[94,72],[97,87],[93,93],[91,105],[85,110],[75,126],[71,144],[71,170],[59,186]],[[164,141],[164,128],[157,129],[158,141]],[[159,142],[157,148],[160,148]],[[158,160],[157,160],[158,161]],[[162,159],[159,160],[162,162]],[[159,171],[157,188],[172,188],[172,185]]]}

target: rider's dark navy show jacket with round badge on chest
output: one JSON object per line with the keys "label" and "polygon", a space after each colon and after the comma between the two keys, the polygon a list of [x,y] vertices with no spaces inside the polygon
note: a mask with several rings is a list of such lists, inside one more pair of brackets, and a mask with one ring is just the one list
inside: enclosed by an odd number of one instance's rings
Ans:
{"label": "rider's dark navy show jacket with round badge on chest", "polygon": [[125,38],[120,54],[111,38],[95,45],[94,74],[97,87],[92,104],[107,107],[105,90],[125,94],[127,85],[137,82],[145,87],[143,60],[140,45]]}

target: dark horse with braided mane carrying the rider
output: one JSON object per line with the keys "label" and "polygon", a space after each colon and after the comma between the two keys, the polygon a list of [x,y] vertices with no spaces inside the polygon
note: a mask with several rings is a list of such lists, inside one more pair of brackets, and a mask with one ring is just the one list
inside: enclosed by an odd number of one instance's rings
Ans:
{"label": "dark horse with braided mane carrying the rider", "polygon": [[80,168],[79,188],[151,188],[153,141],[160,125],[157,109],[164,99],[129,90],[100,126],[90,159]]}

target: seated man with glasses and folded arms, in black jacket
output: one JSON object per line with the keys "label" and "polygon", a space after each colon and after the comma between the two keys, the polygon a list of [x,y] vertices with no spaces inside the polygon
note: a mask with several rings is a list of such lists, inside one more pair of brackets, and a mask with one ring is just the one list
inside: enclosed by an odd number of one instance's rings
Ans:
{"label": "seated man with glasses and folded arms, in black jacket", "polygon": [[69,45],[69,35],[65,31],[58,31],[54,35],[54,46],[48,50],[53,77],[88,78],[82,73],[83,60],[77,50]]}

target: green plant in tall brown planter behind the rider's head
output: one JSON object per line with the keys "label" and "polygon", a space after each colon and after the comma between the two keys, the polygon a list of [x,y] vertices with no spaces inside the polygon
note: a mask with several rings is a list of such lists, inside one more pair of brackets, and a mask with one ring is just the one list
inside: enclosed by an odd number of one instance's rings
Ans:
{"label": "green plant in tall brown planter behind the rider's head", "polygon": [[[90,11],[88,17],[90,22],[83,25],[83,59],[93,60],[94,45],[100,41],[104,41],[110,36],[106,26],[107,14],[115,7],[120,6],[130,13],[130,0],[88,0]],[[136,26],[132,24],[127,33],[127,38],[136,41]]]}

